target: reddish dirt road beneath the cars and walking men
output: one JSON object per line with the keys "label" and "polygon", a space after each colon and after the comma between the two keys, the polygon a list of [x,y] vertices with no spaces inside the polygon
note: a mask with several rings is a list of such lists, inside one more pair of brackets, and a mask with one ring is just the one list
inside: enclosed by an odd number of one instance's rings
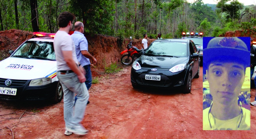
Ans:
{"label": "reddish dirt road beneath the cars and walking men", "polygon": [[[64,135],[63,100],[55,105],[0,101],[0,115],[18,111],[0,116],[0,138],[12,138],[6,126],[13,130],[15,138],[29,139],[256,138],[256,107],[253,106],[251,131],[202,130],[202,67],[200,78],[192,80],[191,94],[179,90],[135,90],[130,82],[130,68],[103,75],[100,83],[93,84],[89,90],[90,104],[82,121],[89,134]],[[251,94],[253,101],[255,91]]]}

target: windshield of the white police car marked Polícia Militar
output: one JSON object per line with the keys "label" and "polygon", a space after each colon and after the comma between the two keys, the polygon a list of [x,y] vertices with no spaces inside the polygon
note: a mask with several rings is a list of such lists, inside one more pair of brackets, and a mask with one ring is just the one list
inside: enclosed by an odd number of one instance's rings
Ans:
{"label": "windshield of the white police car marked Pol\u00edcia Militar", "polygon": [[53,42],[26,41],[13,54],[14,57],[55,60]]}

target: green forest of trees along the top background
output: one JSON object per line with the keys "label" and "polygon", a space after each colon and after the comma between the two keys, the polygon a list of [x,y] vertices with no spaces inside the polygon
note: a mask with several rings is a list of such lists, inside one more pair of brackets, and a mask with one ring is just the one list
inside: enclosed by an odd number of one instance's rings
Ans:
{"label": "green forest of trees along the top background", "polygon": [[217,37],[227,31],[246,29],[255,34],[256,5],[244,6],[237,0],[1,0],[0,30],[21,29],[56,33],[57,18],[63,11],[76,16],[85,34],[103,34],[121,39],[133,36],[179,38],[182,32],[203,32]]}

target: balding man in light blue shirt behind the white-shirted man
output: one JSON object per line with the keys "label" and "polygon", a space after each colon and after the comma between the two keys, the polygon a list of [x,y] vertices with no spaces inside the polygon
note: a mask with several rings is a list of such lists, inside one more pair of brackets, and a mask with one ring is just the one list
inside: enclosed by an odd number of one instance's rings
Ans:
{"label": "balding man in light blue shirt behind the white-shirted man", "polygon": [[[84,24],[82,22],[75,22],[75,32],[71,35],[74,44],[75,44],[75,52],[77,60],[80,64],[84,67],[86,74],[85,74],[85,85],[87,90],[91,87],[91,69],[90,69],[90,60],[91,59],[94,64],[96,64],[97,60],[88,52],[88,42],[84,36]],[[76,98],[75,98],[76,100]],[[89,101],[87,102],[89,104]]]}

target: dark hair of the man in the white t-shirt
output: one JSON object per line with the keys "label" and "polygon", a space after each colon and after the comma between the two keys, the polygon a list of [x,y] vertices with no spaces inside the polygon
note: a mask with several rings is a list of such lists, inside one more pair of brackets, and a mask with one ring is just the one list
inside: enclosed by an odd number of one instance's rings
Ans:
{"label": "dark hair of the man in the white t-shirt", "polygon": [[66,27],[68,26],[69,21],[73,22],[75,19],[75,15],[70,12],[62,12],[59,14],[58,17],[58,25],[59,27]]}

